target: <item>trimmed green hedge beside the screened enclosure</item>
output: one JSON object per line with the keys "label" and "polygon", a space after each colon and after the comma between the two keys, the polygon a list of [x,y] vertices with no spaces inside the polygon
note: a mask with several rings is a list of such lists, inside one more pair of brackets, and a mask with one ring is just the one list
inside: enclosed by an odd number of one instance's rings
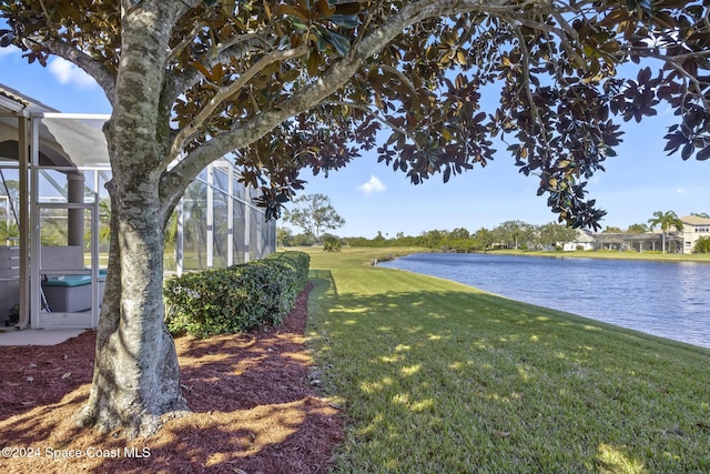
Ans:
{"label": "trimmed green hedge beside the screened enclosure", "polygon": [[277,252],[227,269],[203,270],[165,282],[165,324],[196,337],[278,325],[308,278],[311,258]]}

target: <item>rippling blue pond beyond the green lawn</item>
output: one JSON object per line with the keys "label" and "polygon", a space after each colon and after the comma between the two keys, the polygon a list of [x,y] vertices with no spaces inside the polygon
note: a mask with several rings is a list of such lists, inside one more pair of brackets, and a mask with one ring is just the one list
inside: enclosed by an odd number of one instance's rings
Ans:
{"label": "rippling blue pond beyond the green lawn", "polygon": [[419,253],[381,263],[710,347],[710,264]]}

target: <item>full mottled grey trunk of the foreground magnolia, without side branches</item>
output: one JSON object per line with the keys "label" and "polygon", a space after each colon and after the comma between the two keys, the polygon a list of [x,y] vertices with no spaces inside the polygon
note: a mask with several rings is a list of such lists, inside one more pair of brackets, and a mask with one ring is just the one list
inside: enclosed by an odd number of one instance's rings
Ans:
{"label": "full mottled grey trunk of the foreground magnolia, without side branches", "polygon": [[123,19],[113,115],[104,125],[113,172],[109,272],[93,383],[78,422],[102,431],[121,428],[129,437],[148,436],[160,427],[162,415],[187,410],[164,322],[163,238],[170,211],[159,196],[161,163],[170,148],[161,64],[182,8],[145,2]]}

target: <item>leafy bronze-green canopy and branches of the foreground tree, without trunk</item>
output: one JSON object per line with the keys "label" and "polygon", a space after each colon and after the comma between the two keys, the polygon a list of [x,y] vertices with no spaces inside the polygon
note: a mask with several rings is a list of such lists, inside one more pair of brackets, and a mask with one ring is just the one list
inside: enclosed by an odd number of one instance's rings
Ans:
{"label": "leafy bronze-green canopy and branches of the foreground tree, without trunk", "polygon": [[[561,220],[596,225],[604,213],[585,183],[615,155],[619,121],[670,107],[678,124],[667,151],[710,157],[701,1],[173,3],[13,1],[1,7],[10,29],[0,32],[31,62],[77,63],[116,107],[128,27],[160,18],[161,90],[145,107],[170,137],[164,165],[181,159],[164,175],[166,195],[235,151],[277,215],[305,168],[327,173],[376,149],[414,183],[438,172],[446,181],[485,167],[501,137]],[[618,77],[620,64],[645,58],[660,69]],[[494,83],[500,105],[481,110]]]}

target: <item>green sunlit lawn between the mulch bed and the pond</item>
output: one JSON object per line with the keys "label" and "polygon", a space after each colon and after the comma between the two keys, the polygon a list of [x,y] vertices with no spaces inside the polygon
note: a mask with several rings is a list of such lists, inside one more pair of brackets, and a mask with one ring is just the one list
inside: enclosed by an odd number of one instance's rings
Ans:
{"label": "green sunlit lawn between the mulch bed and the pond", "polygon": [[308,251],[336,472],[710,472],[710,350],[365,264],[406,251]]}

